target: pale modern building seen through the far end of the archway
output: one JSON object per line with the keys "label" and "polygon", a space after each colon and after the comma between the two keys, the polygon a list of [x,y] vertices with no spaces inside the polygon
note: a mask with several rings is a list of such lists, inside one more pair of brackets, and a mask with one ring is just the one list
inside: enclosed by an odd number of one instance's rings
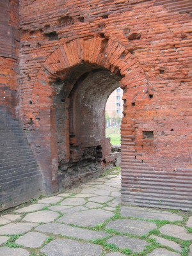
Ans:
{"label": "pale modern building seen through the far end of the archway", "polygon": [[120,126],[124,110],[122,96],[123,90],[120,87],[109,95],[106,103],[106,127]]}

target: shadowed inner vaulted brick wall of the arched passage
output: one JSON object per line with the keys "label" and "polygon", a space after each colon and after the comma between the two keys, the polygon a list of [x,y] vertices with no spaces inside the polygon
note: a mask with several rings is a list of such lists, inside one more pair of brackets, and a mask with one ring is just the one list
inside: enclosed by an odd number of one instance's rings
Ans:
{"label": "shadowed inner vaulted brick wall of the arched passage", "polygon": [[64,188],[97,177],[109,163],[105,134],[106,101],[122,79],[120,72],[88,63],[73,67],[52,83],[58,136],[58,170]]}

